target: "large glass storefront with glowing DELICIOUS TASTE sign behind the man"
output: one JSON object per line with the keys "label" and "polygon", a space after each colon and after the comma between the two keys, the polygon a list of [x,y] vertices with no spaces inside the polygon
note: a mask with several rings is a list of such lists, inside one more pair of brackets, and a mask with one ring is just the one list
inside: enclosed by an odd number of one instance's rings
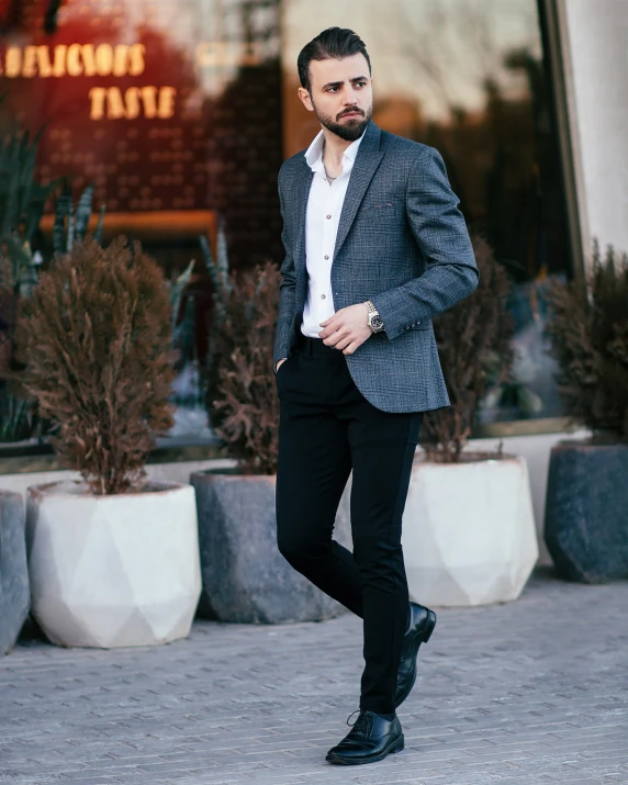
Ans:
{"label": "large glass storefront with glowing DELICIOUS TASTE sign behind the man", "polygon": [[[212,289],[199,235],[215,248],[220,228],[233,268],[281,260],[277,171],[317,132],[295,96],[296,55],[330,25],[366,41],[375,122],[439,149],[470,228],[513,280],[515,380],[492,392],[482,420],[561,413],[543,287],[568,273],[569,258],[535,0],[8,0],[0,9],[0,132],[42,130],[34,179],[67,180],[75,198],[93,183],[105,239],[142,239],[170,280],[195,261],[177,314],[172,437],[211,435]],[[54,208],[48,200],[31,237],[44,266]],[[0,328],[10,322],[4,314]]]}

